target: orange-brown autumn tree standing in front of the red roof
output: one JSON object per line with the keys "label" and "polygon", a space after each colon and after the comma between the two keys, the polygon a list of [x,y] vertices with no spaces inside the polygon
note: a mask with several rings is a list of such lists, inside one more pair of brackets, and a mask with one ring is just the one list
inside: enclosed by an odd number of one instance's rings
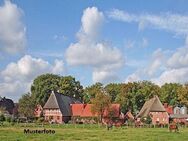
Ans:
{"label": "orange-brown autumn tree standing in front of the red roof", "polygon": [[106,94],[105,91],[99,90],[95,98],[91,100],[91,103],[92,103],[91,112],[99,116],[99,121],[101,123],[103,119],[104,111],[110,108],[111,105],[110,97]]}

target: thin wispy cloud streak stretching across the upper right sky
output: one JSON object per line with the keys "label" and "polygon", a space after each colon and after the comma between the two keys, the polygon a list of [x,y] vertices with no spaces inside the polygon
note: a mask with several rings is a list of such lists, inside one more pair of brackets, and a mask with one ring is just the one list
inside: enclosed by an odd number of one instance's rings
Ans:
{"label": "thin wispy cloud streak stretching across the upper right sky", "polygon": [[108,16],[123,22],[136,22],[139,29],[156,28],[170,31],[180,35],[188,35],[188,15],[163,13],[153,14],[130,14],[126,11],[114,9],[108,12]]}

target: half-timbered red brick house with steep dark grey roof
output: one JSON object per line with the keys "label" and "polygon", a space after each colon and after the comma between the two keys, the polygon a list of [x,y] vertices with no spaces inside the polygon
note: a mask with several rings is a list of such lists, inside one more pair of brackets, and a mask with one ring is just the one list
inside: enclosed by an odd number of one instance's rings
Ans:
{"label": "half-timbered red brick house with steep dark grey roof", "polygon": [[72,116],[71,104],[81,103],[79,100],[52,92],[43,107],[45,121],[55,123],[67,123]]}

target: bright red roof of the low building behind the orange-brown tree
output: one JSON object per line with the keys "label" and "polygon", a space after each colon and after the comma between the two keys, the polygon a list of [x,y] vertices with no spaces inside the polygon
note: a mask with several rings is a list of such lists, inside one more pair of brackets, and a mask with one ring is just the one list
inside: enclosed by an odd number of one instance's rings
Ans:
{"label": "bright red roof of the low building behind the orange-brown tree", "polygon": [[[80,116],[80,117],[93,117],[97,116],[96,114],[93,115],[91,112],[92,104],[72,104],[72,116]],[[112,104],[111,108],[114,111],[114,117],[119,117],[120,113],[120,104]],[[108,116],[107,110],[104,112],[104,117]]]}

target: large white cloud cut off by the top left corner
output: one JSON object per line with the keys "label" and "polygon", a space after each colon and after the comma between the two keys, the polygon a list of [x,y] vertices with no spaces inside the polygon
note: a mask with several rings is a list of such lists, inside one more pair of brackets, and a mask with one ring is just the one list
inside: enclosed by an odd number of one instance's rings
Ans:
{"label": "large white cloud cut off by the top left corner", "polygon": [[0,53],[15,54],[24,50],[26,28],[22,16],[22,10],[8,0],[0,6]]}

